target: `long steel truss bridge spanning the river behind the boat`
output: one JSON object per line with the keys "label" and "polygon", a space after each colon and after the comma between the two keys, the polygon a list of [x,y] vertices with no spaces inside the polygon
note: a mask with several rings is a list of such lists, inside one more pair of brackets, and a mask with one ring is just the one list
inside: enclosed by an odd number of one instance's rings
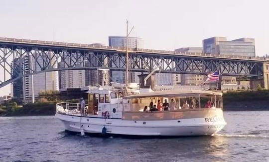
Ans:
{"label": "long steel truss bridge spanning the river behind the boat", "polygon": [[[263,75],[264,58],[128,49],[130,71],[227,76]],[[94,44],[0,38],[0,88],[24,76],[59,70],[125,71],[126,49]],[[32,62],[32,64],[31,64]]]}

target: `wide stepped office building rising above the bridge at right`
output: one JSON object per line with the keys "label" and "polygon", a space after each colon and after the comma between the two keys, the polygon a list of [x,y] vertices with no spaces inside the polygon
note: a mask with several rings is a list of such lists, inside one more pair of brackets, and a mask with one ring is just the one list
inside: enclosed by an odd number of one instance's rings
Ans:
{"label": "wide stepped office building rising above the bridge at right", "polygon": [[255,57],[255,39],[240,38],[227,41],[226,37],[203,40],[203,53]]}

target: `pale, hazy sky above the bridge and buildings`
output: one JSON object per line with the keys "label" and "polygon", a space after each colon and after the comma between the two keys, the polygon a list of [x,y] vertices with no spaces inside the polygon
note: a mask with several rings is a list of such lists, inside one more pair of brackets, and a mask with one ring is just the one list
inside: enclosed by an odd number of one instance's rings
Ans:
{"label": "pale, hazy sky above the bridge and buildings", "polygon": [[[0,0],[0,37],[103,43],[108,36],[144,39],[144,48],[202,47],[202,40],[253,37],[269,54],[269,0]],[[0,96],[10,85],[0,88]]]}

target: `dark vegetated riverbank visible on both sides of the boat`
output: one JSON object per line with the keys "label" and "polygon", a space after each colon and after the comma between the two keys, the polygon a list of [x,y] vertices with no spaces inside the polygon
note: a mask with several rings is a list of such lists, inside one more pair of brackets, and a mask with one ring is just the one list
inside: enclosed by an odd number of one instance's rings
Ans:
{"label": "dark vegetated riverbank visible on both sides of the boat", "polygon": [[[53,116],[56,102],[49,101],[17,106],[15,102],[0,107],[0,116]],[[59,102],[59,101],[58,101]],[[77,101],[73,101],[77,102]],[[9,107],[8,107],[9,106]],[[223,111],[269,111],[269,91],[235,91],[223,93]]]}

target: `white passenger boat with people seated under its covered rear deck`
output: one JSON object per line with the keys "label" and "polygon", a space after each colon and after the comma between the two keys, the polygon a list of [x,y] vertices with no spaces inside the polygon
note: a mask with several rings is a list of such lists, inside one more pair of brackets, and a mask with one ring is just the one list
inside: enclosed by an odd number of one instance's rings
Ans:
{"label": "white passenger boat with people seated under its covered rear deck", "polygon": [[[99,88],[87,93],[84,116],[79,111],[80,103],[56,104],[55,116],[67,131],[106,136],[213,136],[226,125],[221,92],[168,90],[130,93],[127,88]],[[158,100],[165,108],[156,111]]]}

